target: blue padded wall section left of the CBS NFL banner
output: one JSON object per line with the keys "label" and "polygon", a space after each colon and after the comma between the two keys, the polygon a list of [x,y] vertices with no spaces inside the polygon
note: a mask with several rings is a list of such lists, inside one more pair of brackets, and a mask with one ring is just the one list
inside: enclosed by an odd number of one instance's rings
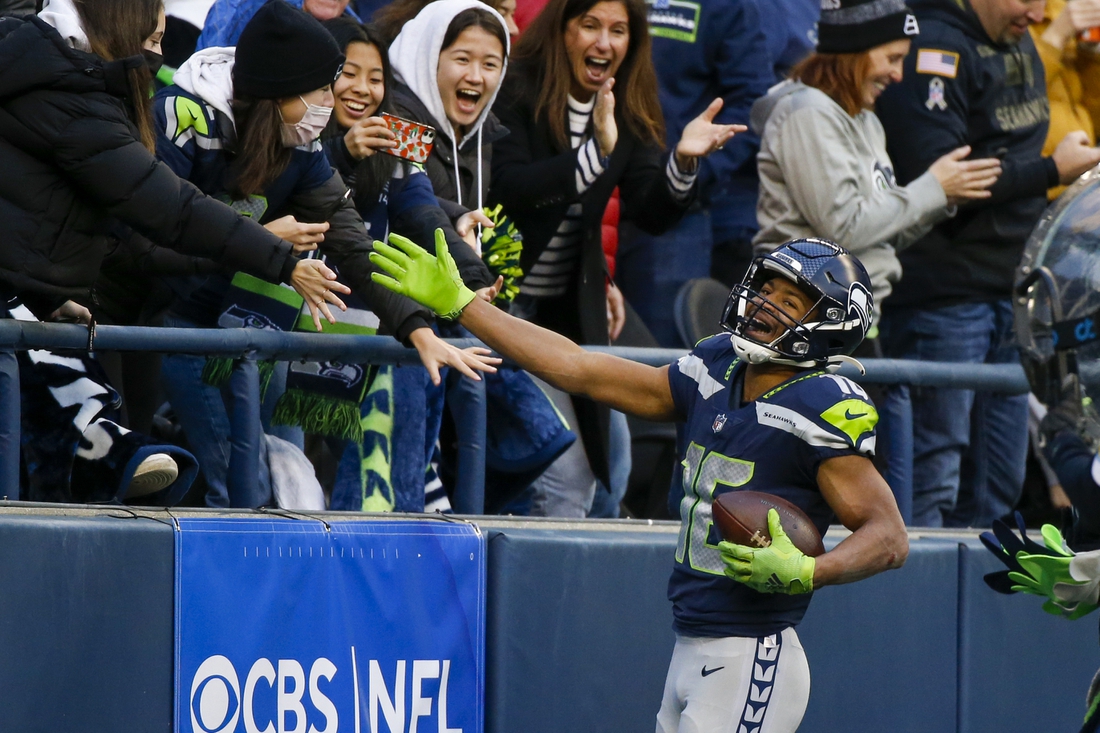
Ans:
{"label": "blue padded wall section left of the CBS NFL banner", "polygon": [[172,730],[173,530],[0,519],[0,730]]}

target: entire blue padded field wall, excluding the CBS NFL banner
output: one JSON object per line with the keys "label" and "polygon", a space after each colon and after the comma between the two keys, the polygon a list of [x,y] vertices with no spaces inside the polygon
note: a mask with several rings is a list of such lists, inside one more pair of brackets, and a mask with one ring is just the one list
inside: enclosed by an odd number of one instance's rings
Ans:
{"label": "entire blue padded field wall, excluding the CBS NFL banner", "polygon": [[[257,514],[0,502],[0,730],[172,730],[175,519]],[[475,521],[485,732],[652,731],[676,525]],[[813,677],[800,733],[1077,730],[1100,665],[1094,614],[1068,622],[990,591],[981,577],[1001,566],[976,532],[913,532],[910,547],[902,569],[815,594],[799,627]]]}

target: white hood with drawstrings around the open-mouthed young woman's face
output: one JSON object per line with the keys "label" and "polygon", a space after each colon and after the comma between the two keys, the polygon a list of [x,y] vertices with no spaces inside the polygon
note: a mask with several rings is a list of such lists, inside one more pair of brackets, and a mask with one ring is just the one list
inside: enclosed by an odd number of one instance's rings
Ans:
{"label": "white hood with drawstrings around the open-mouthed young woman's face", "polygon": [[[451,125],[451,121],[447,119],[447,112],[443,109],[443,98],[439,94],[437,73],[439,70],[439,54],[443,50],[443,36],[447,35],[447,28],[454,20],[455,15],[470,8],[486,10],[501,22],[501,28],[504,29],[505,57],[504,67],[501,69],[501,81],[497,84],[496,89],[490,95],[485,108],[477,116],[477,121],[471,125],[470,131],[463,135],[462,140],[458,140],[454,128]],[[429,3],[416,18],[405,24],[402,32],[397,34],[397,37],[394,39],[393,44],[389,46],[389,64],[393,66],[394,77],[413,90],[413,94],[428,108],[428,111],[439,123],[440,128],[442,128],[441,131],[446,132],[447,136],[451,140],[451,145],[454,147],[455,180],[460,180],[459,149],[475,134],[477,135],[479,209],[482,208],[482,124],[485,122],[485,118],[488,117],[493,108],[493,102],[496,100],[496,95],[501,90],[501,85],[504,83],[504,75],[508,70],[509,52],[508,25],[504,22],[504,18],[477,0],[437,0]],[[459,187],[459,197],[461,198],[461,186]],[[463,204],[461,200],[458,203]]]}

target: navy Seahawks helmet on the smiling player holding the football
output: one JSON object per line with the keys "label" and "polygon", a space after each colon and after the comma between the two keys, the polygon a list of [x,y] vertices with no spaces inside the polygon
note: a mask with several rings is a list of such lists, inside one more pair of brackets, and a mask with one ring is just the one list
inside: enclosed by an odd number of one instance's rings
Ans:
{"label": "navy Seahawks helmet on the smiling player holding the football", "polygon": [[[760,293],[776,276],[810,296],[813,306],[805,317],[792,318]],[[729,293],[722,326],[746,362],[837,369],[867,336],[873,307],[870,277],[855,255],[828,240],[795,239],[752,260]],[[749,335],[759,331],[761,313],[785,326],[768,342]]]}

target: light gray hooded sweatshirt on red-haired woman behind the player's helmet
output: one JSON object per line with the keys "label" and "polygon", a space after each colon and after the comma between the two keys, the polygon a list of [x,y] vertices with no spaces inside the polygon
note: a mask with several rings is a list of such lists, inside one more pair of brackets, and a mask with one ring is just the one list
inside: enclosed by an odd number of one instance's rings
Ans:
{"label": "light gray hooded sweatshirt on red-haired woman behind the player's helmet", "polygon": [[867,267],[879,309],[901,277],[898,250],[948,216],[939,182],[925,172],[898,186],[875,112],[851,117],[799,81],[772,87],[750,122],[760,135],[756,252],[800,237],[833,240]]}

